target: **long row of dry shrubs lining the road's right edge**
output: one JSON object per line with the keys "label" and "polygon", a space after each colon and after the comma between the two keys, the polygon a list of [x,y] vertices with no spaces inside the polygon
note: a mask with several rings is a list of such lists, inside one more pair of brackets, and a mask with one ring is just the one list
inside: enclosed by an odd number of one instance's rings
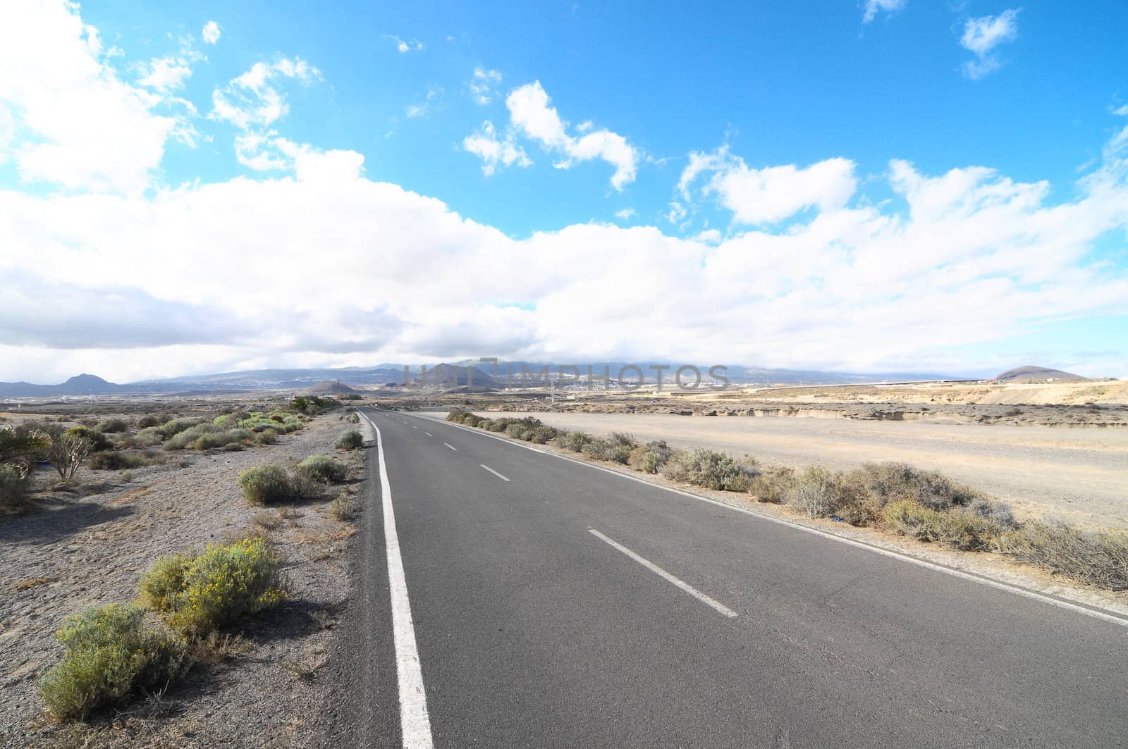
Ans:
{"label": "long row of dry shrubs lining the road's right edge", "polygon": [[455,409],[447,421],[525,441],[552,441],[591,460],[624,465],[690,486],[746,494],[812,519],[874,528],[963,552],[992,552],[1075,582],[1128,590],[1128,534],[1019,521],[1006,503],[937,472],[897,462],[865,464],[846,472],[822,467],[796,472],[716,450],[675,450],[663,441],[642,443],[624,433],[603,438],[562,431],[534,417],[484,418]]}

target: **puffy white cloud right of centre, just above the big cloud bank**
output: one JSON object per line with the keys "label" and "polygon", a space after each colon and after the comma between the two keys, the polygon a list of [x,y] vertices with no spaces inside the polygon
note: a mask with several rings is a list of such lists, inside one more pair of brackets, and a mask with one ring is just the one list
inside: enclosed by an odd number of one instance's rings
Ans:
{"label": "puffy white cloud right of centre, just above the big cloud bank", "polygon": [[715,194],[741,223],[773,223],[805,209],[837,211],[857,190],[854,162],[848,159],[827,159],[809,167],[751,169],[743,159],[732,156],[728,146],[722,146],[712,153],[689,155],[689,164],[678,182],[682,197],[690,197],[703,174],[711,176],[702,193]]}

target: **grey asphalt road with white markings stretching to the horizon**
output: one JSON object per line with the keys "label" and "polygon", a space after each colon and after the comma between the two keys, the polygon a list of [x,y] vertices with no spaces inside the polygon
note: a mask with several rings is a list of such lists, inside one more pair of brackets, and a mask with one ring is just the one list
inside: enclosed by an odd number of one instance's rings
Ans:
{"label": "grey asphalt road with white markings stretching to the horizon", "polygon": [[1128,744],[1120,623],[364,413],[342,746]]}

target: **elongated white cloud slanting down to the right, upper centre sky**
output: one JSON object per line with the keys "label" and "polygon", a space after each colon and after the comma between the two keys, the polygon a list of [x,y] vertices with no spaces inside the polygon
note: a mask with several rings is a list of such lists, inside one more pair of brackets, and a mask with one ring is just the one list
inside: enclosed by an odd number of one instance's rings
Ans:
{"label": "elongated white cloud slanting down to the right, upper centre sky", "polygon": [[556,151],[563,158],[554,166],[561,169],[571,168],[574,161],[602,159],[615,167],[611,186],[622,191],[634,182],[638,169],[638,151],[625,138],[608,130],[591,131],[591,124],[584,123],[587,134],[576,139],[567,134],[567,129],[556,108],[549,106],[548,94],[540,81],[526,83],[514,89],[505,100],[513,125],[527,138],[540,141],[549,151]]}

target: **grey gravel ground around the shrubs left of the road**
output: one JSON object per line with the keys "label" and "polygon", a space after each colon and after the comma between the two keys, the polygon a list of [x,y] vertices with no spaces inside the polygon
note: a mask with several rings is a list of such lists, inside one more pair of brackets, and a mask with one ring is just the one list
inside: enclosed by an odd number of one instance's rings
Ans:
{"label": "grey gravel ground around the shrubs left of the road", "polygon": [[[346,426],[340,412],[327,414],[276,444],[176,453],[167,465],[130,472],[129,482],[83,468],[77,491],[41,497],[24,517],[0,517],[0,746],[318,746],[331,699],[321,667],[350,596],[353,531],[329,517],[328,499],[356,494],[364,472],[363,450],[333,450]],[[240,497],[239,472],[318,452],[352,466],[350,482],[325,501],[288,506],[283,518]],[[237,631],[243,652],[196,666],[183,685],[115,716],[52,724],[37,687],[62,657],[54,633],[63,618],[89,603],[131,600],[159,555],[238,537],[261,512],[279,520],[270,537],[290,597]]]}

